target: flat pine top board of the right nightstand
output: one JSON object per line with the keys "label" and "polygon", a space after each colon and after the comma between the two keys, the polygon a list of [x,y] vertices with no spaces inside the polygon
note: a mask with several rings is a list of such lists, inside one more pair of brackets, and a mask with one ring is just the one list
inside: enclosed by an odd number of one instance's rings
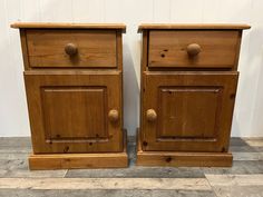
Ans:
{"label": "flat pine top board of the right nightstand", "polygon": [[138,32],[142,30],[176,30],[176,29],[250,29],[249,24],[238,24],[238,23],[143,23],[138,27]]}

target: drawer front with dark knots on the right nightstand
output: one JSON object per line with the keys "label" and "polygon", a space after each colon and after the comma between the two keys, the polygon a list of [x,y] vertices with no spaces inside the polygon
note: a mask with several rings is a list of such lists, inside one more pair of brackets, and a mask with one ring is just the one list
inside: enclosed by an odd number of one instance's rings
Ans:
{"label": "drawer front with dark knots on the right nightstand", "polygon": [[149,31],[148,67],[233,68],[237,63],[240,31]]}

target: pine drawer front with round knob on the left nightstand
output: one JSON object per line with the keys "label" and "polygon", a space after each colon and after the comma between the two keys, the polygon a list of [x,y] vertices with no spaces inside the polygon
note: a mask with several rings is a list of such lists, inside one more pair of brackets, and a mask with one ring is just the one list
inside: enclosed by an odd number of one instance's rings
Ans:
{"label": "pine drawer front with round knob on the left nightstand", "polygon": [[116,31],[27,30],[30,67],[115,68]]}

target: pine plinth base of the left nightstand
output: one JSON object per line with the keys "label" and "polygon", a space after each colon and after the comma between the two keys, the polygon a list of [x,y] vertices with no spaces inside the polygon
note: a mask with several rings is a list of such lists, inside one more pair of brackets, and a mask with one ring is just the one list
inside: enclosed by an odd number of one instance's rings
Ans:
{"label": "pine plinth base of the left nightstand", "polygon": [[80,169],[80,168],[125,168],[128,166],[127,131],[123,130],[124,149],[107,154],[52,154],[29,156],[31,170]]}

